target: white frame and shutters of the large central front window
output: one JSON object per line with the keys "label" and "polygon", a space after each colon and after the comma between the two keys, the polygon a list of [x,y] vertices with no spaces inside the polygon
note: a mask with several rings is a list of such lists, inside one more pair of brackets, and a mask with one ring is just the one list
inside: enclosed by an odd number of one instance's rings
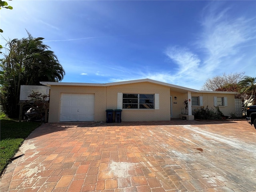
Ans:
{"label": "white frame and shutters of the large central front window", "polygon": [[[129,94],[129,93],[127,93]],[[131,93],[132,94],[132,93]],[[133,93],[133,94],[137,94],[137,93]],[[142,94],[142,93],[141,93]],[[124,108],[124,110],[159,110],[159,94],[152,94],[154,95],[154,109],[150,108],[150,109],[140,109],[140,99],[138,98],[138,108],[132,108],[132,109],[127,109]],[[138,94],[139,96],[139,94]],[[123,93],[117,93],[117,109],[123,109]]]}

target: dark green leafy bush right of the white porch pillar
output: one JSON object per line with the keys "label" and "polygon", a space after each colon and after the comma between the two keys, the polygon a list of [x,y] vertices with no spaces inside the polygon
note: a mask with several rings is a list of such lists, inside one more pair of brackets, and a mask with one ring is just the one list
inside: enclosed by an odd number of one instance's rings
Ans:
{"label": "dark green leafy bush right of the white porch pillar", "polygon": [[196,108],[193,110],[192,114],[195,119],[217,119],[217,114],[213,108],[204,108],[204,106],[200,108]]}

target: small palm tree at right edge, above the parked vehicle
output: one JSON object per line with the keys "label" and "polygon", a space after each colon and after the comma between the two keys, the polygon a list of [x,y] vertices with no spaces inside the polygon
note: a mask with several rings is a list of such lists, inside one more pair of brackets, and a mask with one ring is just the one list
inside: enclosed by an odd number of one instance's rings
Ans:
{"label": "small palm tree at right edge, above the parked vehicle", "polygon": [[242,94],[246,94],[248,96],[248,100],[246,102],[246,106],[252,100],[252,104],[256,105],[256,78],[245,76],[239,83],[240,92]]}

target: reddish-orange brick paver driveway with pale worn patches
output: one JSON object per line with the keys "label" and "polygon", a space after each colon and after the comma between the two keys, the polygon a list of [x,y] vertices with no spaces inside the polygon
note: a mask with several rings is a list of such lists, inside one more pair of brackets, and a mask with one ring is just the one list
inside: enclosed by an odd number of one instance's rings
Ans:
{"label": "reddish-orange brick paver driveway with pale worn patches", "polygon": [[256,191],[256,130],[245,121],[43,124],[0,191]]}

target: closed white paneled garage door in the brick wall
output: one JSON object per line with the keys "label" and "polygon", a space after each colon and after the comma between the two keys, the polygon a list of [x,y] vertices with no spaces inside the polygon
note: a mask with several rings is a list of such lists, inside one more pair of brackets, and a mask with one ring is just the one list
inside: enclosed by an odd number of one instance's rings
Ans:
{"label": "closed white paneled garage door in the brick wall", "polygon": [[94,94],[62,93],[60,121],[94,121]]}

